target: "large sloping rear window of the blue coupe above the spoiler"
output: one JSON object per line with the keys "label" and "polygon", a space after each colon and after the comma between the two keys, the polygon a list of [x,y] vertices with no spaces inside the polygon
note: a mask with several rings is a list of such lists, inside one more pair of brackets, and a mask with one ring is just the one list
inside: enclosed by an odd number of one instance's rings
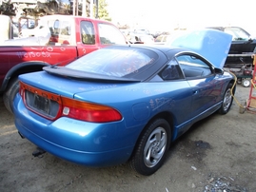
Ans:
{"label": "large sloping rear window of the blue coupe above the spoiler", "polygon": [[98,75],[131,77],[153,65],[156,59],[154,51],[144,48],[101,48],[66,67]]}

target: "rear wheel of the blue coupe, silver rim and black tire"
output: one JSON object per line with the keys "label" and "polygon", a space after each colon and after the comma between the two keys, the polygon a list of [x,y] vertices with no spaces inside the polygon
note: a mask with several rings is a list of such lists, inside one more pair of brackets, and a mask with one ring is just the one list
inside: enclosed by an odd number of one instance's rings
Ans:
{"label": "rear wheel of the blue coupe, silver rim and black tire", "polygon": [[151,175],[164,163],[170,144],[170,126],[157,119],[146,127],[135,146],[131,167],[142,175]]}

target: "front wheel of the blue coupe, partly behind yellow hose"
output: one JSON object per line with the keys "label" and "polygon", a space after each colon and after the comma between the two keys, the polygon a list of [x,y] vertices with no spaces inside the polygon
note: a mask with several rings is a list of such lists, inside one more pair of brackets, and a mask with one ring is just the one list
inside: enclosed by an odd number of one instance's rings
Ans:
{"label": "front wheel of the blue coupe, partly behind yellow hose", "polygon": [[232,90],[232,86],[233,84],[230,83],[226,87],[226,91],[223,97],[223,104],[218,111],[220,114],[223,114],[223,115],[226,114],[229,111],[230,107],[232,106],[233,94],[235,93],[235,86],[233,90]]}

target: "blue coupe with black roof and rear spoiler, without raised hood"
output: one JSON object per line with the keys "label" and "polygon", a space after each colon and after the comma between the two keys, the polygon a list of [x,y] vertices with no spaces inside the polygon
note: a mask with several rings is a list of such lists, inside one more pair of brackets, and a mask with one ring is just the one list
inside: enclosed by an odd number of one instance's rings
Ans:
{"label": "blue coupe with black roof and rear spoiler, without raised hood", "polygon": [[89,166],[130,163],[150,175],[195,122],[226,114],[234,77],[187,48],[101,48],[66,67],[19,76],[15,125],[59,158]]}

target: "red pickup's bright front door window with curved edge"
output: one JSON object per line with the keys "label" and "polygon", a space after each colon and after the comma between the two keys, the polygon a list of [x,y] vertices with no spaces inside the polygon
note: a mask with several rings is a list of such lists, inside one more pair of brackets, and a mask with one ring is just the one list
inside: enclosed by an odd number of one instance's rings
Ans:
{"label": "red pickup's bright front door window with curved edge", "polygon": [[108,24],[99,24],[99,35],[101,44],[126,44],[123,33]]}

